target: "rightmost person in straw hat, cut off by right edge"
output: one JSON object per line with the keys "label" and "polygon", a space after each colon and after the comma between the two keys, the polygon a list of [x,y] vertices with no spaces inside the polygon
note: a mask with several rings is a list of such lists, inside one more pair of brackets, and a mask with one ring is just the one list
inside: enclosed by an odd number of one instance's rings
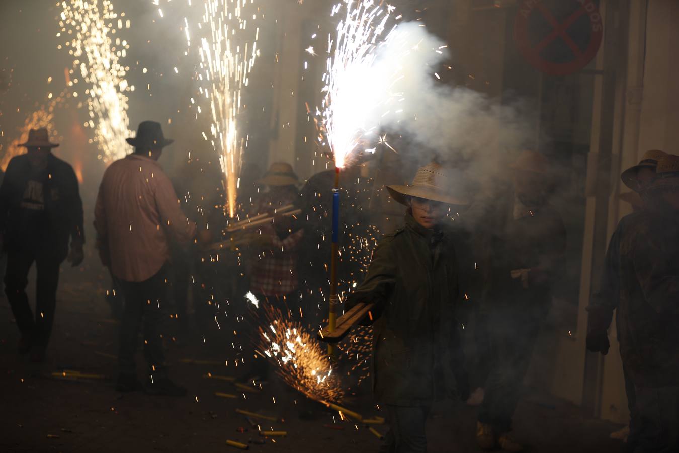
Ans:
{"label": "rightmost person in straw hat, cut off by right edge", "polygon": [[[679,451],[679,156],[661,156],[626,218],[617,262],[620,355],[636,396],[629,451]],[[603,351],[602,351],[603,352]]]}

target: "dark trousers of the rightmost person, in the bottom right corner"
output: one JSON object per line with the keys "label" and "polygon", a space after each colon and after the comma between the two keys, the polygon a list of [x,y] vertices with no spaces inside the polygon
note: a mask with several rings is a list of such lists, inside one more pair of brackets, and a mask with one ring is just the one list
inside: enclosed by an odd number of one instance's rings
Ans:
{"label": "dark trousers of the rightmost person, in the bottom right corner", "polygon": [[635,386],[636,427],[628,450],[634,453],[679,452],[679,386]]}

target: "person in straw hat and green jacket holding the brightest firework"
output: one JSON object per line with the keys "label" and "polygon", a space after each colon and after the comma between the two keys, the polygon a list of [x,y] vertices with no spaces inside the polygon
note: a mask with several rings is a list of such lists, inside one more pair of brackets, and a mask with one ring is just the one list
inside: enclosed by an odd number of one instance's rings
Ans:
{"label": "person in straw hat and green jacket holding the brightest firework", "polygon": [[[389,414],[386,452],[426,451],[436,399],[469,396],[456,307],[464,299],[462,240],[446,217],[469,204],[447,170],[428,164],[411,185],[388,185],[407,206],[405,225],[378,242],[365,280],[345,309],[375,303],[373,392]],[[452,207],[452,211],[449,211]]]}

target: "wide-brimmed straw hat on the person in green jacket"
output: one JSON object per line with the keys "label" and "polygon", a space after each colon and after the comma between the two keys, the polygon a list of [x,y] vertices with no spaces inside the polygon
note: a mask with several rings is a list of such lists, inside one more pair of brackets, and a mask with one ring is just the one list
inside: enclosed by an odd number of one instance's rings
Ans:
{"label": "wide-brimmed straw hat on the person in green jacket", "polygon": [[425,198],[445,204],[469,204],[469,200],[458,189],[458,194],[450,194],[458,187],[447,175],[441,165],[432,162],[418,169],[411,185],[386,185],[389,194],[401,204],[406,204],[406,196]]}

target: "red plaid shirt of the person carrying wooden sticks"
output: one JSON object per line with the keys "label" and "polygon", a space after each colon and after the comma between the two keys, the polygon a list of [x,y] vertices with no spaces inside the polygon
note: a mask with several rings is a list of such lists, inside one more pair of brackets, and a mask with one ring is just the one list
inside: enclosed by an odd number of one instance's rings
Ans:
{"label": "red plaid shirt of the person carrying wooden sticks", "polygon": [[[285,206],[294,200],[278,200],[272,202],[270,196],[264,196],[259,203],[258,212],[265,212],[272,206]],[[297,276],[297,247],[304,236],[304,230],[299,229],[280,239],[274,226],[267,223],[261,228],[262,235],[271,237],[272,246],[259,255],[253,257],[250,289],[253,293],[275,296],[287,295],[299,287]]]}

